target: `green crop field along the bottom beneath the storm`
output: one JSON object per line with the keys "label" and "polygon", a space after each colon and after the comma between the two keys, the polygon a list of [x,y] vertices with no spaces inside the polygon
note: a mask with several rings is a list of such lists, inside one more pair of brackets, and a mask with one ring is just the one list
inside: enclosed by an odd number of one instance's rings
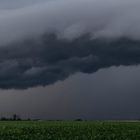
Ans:
{"label": "green crop field along the bottom beneath the storm", "polygon": [[140,140],[140,122],[0,122],[0,140]]}

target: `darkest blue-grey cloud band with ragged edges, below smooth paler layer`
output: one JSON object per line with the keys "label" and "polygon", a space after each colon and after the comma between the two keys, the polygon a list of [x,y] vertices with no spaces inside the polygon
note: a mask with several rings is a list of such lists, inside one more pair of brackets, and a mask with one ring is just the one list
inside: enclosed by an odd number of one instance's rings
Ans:
{"label": "darkest blue-grey cloud band with ragged edges, below smooth paler layer", "polygon": [[91,40],[90,35],[68,41],[44,35],[0,48],[0,88],[45,86],[77,72],[139,63],[140,41]]}

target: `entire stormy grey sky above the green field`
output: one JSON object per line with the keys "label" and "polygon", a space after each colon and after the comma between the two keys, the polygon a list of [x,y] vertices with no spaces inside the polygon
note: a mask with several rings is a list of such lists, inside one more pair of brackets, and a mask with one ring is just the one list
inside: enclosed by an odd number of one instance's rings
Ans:
{"label": "entire stormy grey sky above the green field", "polygon": [[139,119],[139,6],[0,0],[0,116]]}

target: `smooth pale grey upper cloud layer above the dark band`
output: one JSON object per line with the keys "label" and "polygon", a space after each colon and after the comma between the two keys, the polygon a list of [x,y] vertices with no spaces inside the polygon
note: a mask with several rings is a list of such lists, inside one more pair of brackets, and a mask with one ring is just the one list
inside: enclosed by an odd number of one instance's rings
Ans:
{"label": "smooth pale grey upper cloud layer above the dark band", "polygon": [[85,33],[91,33],[93,38],[140,39],[138,0],[51,0],[27,5],[1,9],[1,44],[38,37],[45,32],[56,32],[60,38],[68,39]]}

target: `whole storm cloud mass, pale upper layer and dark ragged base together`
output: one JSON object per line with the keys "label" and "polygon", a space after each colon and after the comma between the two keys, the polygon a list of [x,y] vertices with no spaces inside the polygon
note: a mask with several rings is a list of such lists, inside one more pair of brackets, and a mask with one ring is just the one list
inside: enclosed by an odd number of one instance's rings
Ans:
{"label": "whole storm cloud mass, pale upper layer and dark ragged base together", "polygon": [[138,0],[26,2],[0,10],[0,88],[140,63]]}

